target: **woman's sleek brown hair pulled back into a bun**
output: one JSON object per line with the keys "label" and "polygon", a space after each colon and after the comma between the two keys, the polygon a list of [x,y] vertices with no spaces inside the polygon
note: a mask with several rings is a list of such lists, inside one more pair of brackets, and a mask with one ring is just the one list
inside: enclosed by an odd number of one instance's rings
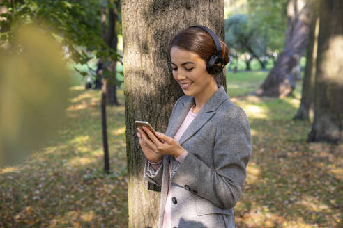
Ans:
{"label": "woman's sleek brown hair pulled back into a bun", "polygon": [[[208,63],[208,60],[210,60],[211,56],[217,53],[215,42],[211,35],[203,29],[196,27],[189,27],[178,33],[178,35],[176,35],[172,40],[170,49],[172,49],[174,46],[180,47],[187,51],[195,52],[195,54],[198,54],[206,61],[206,63]],[[230,59],[229,49],[227,48],[227,44],[222,42],[222,40],[220,40],[220,46],[222,47],[222,59],[224,60],[224,65],[227,65]]]}

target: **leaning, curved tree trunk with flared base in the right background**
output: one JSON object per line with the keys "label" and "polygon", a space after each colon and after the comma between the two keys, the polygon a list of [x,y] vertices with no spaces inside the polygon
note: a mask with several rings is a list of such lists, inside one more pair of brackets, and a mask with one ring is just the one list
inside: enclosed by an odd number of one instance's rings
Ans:
{"label": "leaning, curved tree trunk with flared base in the right background", "polygon": [[284,50],[270,70],[256,95],[286,97],[291,95],[296,83],[292,70],[300,61],[310,30],[310,1],[289,0],[287,6],[287,31]]}

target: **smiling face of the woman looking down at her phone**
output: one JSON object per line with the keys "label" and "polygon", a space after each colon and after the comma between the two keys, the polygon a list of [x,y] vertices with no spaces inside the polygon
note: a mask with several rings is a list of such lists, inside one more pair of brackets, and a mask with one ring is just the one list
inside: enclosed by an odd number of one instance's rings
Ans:
{"label": "smiling face of the woman looking down at her phone", "polygon": [[170,57],[174,79],[185,95],[197,96],[213,88],[215,80],[206,71],[206,61],[199,55],[174,46],[170,50]]}

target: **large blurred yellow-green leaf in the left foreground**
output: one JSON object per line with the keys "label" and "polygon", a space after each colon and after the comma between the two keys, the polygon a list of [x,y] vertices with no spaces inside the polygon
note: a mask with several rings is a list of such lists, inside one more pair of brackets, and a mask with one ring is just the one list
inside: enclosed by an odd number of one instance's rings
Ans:
{"label": "large blurred yellow-green leaf in the left foreground", "polygon": [[61,47],[43,31],[23,26],[0,52],[0,166],[22,161],[65,116],[70,75]]}

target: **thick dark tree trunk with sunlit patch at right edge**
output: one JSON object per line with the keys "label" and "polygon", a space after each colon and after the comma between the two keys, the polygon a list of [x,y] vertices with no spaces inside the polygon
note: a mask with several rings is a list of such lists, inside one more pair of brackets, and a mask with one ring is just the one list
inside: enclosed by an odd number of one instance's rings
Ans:
{"label": "thick dark tree trunk with sunlit patch at right edge", "polygon": [[314,122],[309,142],[343,142],[343,1],[321,1]]}

